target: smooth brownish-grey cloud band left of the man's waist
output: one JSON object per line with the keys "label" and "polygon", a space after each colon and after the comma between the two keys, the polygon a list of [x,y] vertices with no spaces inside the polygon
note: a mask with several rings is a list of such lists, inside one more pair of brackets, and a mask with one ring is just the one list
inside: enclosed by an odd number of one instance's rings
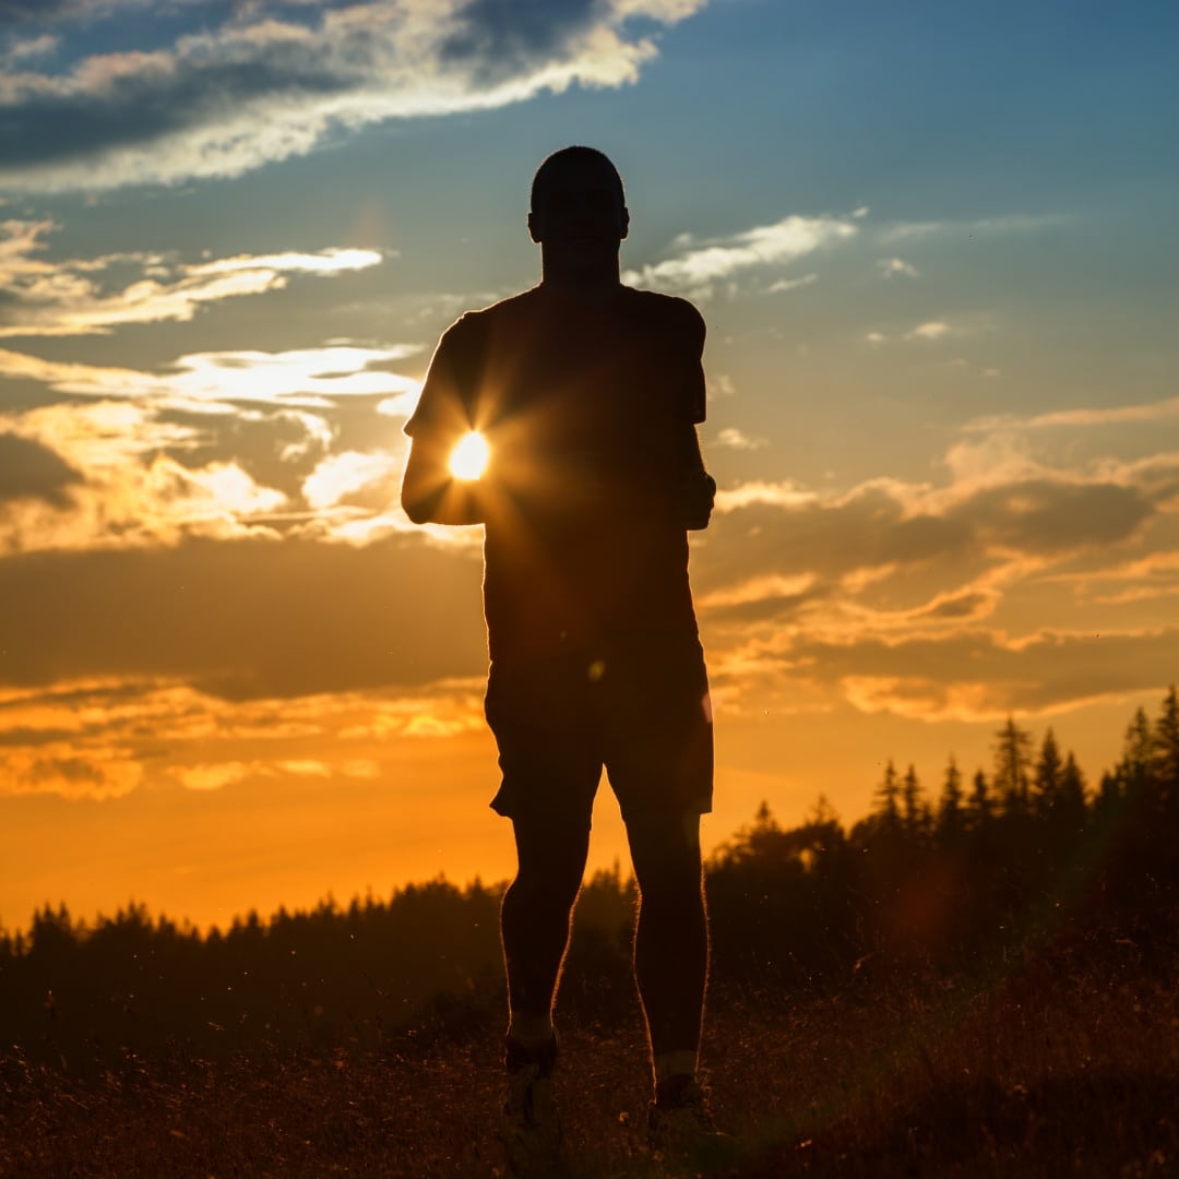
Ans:
{"label": "smooth brownish-grey cloud band left of the man's waist", "polygon": [[473,553],[394,539],[189,541],[0,561],[0,683],[179,678],[225,699],[411,686],[486,668]]}

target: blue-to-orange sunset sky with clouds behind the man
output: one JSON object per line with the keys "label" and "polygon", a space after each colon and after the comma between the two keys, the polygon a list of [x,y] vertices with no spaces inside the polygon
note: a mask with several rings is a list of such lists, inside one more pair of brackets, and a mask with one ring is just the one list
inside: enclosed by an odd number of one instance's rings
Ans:
{"label": "blue-to-orange sunset sky with clouds behind the man", "polygon": [[0,2],[0,924],[509,876],[481,534],[409,523],[402,426],[569,143],[709,324],[706,845],[1008,717],[1095,784],[1179,678],[1177,50],[1161,0]]}

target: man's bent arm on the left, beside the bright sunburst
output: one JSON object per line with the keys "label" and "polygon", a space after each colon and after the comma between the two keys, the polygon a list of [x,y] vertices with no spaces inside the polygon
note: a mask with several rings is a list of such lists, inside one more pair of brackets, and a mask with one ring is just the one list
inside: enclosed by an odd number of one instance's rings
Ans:
{"label": "man's bent arm on the left, beside the bright sunburst", "polygon": [[401,483],[401,506],[414,523],[483,522],[479,480],[455,479],[449,468],[455,446],[474,429],[470,396],[463,395],[460,380],[468,368],[460,355],[463,345],[460,324],[439,341],[417,409],[406,422],[410,446]]}

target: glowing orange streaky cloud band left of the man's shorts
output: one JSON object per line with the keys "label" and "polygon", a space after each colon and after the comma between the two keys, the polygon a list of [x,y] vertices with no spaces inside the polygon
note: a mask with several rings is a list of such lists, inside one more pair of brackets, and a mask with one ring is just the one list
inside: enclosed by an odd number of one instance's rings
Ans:
{"label": "glowing orange streaky cloud band left of the man's shorts", "polygon": [[0,795],[117,798],[249,780],[373,780],[390,743],[481,731],[481,680],[414,694],[218,699],[182,681],[65,679],[0,689]]}

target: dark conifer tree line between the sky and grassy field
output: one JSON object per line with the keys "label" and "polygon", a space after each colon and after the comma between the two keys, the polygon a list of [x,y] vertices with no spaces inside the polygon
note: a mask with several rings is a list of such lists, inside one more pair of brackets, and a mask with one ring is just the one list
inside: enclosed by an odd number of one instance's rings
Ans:
{"label": "dark conifer tree line between the sky and grassy field", "polygon": [[[950,757],[930,790],[885,764],[869,815],[819,796],[783,828],[768,804],[710,857],[712,983],[777,993],[895,971],[983,973],[1049,943],[1173,966],[1179,904],[1179,697],[1139,709],[1095,786],[1053,731],[1014,719],[990,771]],[[257,1045],[407,1045],[500,1017],[502,884],[444,878],[202,934],[130,905],[88,926],[64,905],[0,931],[0,1055],[75,1067],[134,1053]],[[618,865],[582,889],[561,1006],[634,1009],[635,887]]]}

